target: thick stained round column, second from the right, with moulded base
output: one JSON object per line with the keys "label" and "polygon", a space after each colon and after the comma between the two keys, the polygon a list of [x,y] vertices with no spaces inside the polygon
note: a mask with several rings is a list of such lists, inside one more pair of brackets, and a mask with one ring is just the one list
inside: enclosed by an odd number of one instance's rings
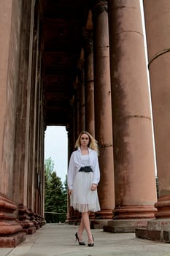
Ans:
{"label": "thick stained round column, second from the right, with moulded base", "polygon": [[109,43],[115,159],[114,219],[152,218],[156,200],[155,165],[139,1],[109,1]]}

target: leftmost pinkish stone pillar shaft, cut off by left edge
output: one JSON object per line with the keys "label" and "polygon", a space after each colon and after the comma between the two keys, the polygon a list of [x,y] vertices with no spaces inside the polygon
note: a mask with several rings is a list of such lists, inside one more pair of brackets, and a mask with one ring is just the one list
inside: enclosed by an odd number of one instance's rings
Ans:
{"label": "leftmost pinkish stone pillar shaft, cut off by left edge", "polygon": [[22,4],[1,1],[0,10],[0,192],[12,200]]}

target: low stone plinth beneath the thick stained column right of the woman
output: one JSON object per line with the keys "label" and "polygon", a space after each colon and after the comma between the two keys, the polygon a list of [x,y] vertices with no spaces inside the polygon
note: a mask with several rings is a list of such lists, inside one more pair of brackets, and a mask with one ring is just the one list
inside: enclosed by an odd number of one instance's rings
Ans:
{"label": "low stone plinth beneath the thick stained column right of the woman", "polygon": [[147,227],[148,219],[112,219],[104,226],[105,232],[134,233],[137,227]]}

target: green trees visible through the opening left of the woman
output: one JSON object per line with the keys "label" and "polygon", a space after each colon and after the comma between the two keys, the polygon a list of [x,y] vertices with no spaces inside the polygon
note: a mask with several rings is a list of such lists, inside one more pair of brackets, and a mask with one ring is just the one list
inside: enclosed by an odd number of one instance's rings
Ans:
{"label": "green trees visible through the opening left of the woman", "polygon": [[[47,165],[46,165],[47,163]],[[66,182],[53,171],[53,160],[45,160],[45,219],[46,222],[65,222],[67,208]],[[47,213],[49,212],[49,213]]]}

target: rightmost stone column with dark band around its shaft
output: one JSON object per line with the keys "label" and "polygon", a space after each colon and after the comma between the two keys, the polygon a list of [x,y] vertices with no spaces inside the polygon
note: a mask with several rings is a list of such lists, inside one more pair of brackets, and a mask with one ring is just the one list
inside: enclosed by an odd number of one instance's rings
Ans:
{"label": "rightmost stone column with dark band around its shaft", "polygon": [[[151,12],[152,10],[152,12]],[[156,218],[170,218],[170,2],[144,1],[148,67],[152,97],[155,151],[158,170]],[[170,219],[169,219],[170,221]]]}

